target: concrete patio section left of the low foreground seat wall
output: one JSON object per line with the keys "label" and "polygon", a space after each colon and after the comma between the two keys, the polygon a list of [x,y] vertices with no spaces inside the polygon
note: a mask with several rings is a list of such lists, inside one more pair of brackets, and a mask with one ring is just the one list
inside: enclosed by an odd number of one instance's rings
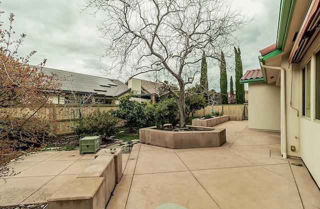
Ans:
{"label": "concrete patio section left of the low foreground seat wall", "polygon": [[[15,176],[0,180],[1,206],[46,203],[65,182],[75,179],[96,154],[79,151],[52,151],[31,154],[11,163]],[[123,169],[129,154],[122,154]]]}

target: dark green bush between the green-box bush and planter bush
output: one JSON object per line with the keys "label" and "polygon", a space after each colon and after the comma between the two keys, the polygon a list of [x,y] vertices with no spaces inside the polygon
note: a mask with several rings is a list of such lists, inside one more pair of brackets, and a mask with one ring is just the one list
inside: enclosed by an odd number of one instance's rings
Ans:
{"label": "dark green bush between the green-box bush and planter bush", "polygon": [[124,127],[132,131],[135,127],[142,127],[146,123],[144,114],[145,103],[130,100],[132,94],[119,98],[117,110],[111,111],[112,114],[123,120]]}

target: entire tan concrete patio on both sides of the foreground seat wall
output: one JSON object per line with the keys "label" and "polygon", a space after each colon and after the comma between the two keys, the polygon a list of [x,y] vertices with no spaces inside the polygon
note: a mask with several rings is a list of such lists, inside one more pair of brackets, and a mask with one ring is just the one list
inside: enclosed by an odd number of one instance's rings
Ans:
{"label": "entire tan concrete patio on both sides of the foreground seat wall", "polygon": [[[280,156],[280,135],[247,130],[228,121],[219,148],[172,150],[145,144],[123,154],[124,173],[107,209],[155,209],[175,203],[187,209],[316,209],[320,191],[299,159]],[[94,154],[44,152],[14,164],[0,182],[0,206],[44,203],[87,167]],[[291,163],[300,163],[294,166]]]}

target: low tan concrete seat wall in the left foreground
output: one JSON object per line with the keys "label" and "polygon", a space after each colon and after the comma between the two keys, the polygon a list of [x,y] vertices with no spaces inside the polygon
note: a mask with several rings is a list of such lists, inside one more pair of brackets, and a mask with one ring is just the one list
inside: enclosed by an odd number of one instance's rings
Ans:
{"label": "low tan concrete seat wall in the left foreground", "polygon": [[76,179],[66,182],[49,199],[49,209],[104,209],[122,176],[122,150],[102,149]]}

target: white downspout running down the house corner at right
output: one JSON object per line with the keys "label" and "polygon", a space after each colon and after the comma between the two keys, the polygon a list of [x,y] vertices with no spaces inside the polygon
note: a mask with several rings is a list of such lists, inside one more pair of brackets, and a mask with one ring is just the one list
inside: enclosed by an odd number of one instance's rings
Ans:
{"label": "white downspout running down the house corner at right", "polygon": [[286,155],[286,106],[285,106],[285,70],[283,67],[264,65],[260,62],[260,66],[269,69],[275,69],[281,71],[280,77],[280,106],[281,106],[281,154],[283,158],[287,158]]}

